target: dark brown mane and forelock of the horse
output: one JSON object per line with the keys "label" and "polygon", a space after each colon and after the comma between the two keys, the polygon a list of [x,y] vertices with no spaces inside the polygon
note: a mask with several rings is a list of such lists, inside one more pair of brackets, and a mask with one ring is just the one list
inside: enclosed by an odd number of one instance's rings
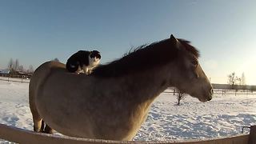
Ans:
{"label": "dark brown mane and forelock of the horse", "polygon": [[[190,46],[190,42],[184,39],[178,39],[179,42],[195,57],[199,57],[198,50]],[[156,66],[163,66],[170,61],[178,58],[176,45],[171,42],[170,38],[160,42],[154,42],[150,45],[138,46],[130,50],[119,58],[106,65],[97,66],[92,75],[99,77],[118,77],[124,74],[134,74],[136,71],[150,70]]]}

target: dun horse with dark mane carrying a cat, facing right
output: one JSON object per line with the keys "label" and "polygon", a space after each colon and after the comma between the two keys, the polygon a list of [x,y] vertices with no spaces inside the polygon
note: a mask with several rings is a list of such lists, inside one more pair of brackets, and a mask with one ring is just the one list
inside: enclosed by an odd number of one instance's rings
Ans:
{"label": "dun horse with dark mane carrying a cat, facing right", "polygon": [[131,140],[150,105],[174,86],[201,102],[212,86],[189,41],[170,38],[140,46],[122,58],[98,66],[90,75],[72,74],[61,62],[45,62],[30,79],[29,102],[34,131],[79,138]]}

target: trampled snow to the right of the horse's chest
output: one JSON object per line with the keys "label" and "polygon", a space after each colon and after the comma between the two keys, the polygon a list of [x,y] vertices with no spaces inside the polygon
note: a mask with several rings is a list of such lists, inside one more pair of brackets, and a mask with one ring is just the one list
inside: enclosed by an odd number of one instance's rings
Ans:
{"label": "trampled snow to the right of the horse's chest", "polygon": [[214,96],[199,102],[187,96],[181,106],[174,95],[161,94],[135,140],[219,138],[241,134],[256,124],[256,95]]}

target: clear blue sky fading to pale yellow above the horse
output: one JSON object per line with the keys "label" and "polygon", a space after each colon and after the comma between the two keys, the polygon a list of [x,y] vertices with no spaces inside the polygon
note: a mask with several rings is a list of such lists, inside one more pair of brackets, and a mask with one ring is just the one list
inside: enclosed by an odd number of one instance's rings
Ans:
{"label": "clear blue sky fading to pale yellow above the horse", "polygon": [[245,74],[256,85],[254,0],[2,0],[0,70],[10,58],[36,69],[78,50],[98,50],[102,63],[131,47],[170,38],[189,40],[200,51],[210,82]]}

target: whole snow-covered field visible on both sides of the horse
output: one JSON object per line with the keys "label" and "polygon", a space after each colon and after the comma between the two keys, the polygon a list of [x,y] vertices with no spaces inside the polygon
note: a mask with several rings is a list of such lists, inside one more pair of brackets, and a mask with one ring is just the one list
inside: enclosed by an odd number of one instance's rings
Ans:
{"label": "whole snow-covered field visible on both sides of the horse", "polygon": [[[33,130],[28,86],[0,81],[0,123]],[[214,95],[205,103],[187,96],[181,106],[176,103],[173,94],[162,93],[134,140],[219,138],[241,134],[242,126],[256,125],[256,95]]]}

